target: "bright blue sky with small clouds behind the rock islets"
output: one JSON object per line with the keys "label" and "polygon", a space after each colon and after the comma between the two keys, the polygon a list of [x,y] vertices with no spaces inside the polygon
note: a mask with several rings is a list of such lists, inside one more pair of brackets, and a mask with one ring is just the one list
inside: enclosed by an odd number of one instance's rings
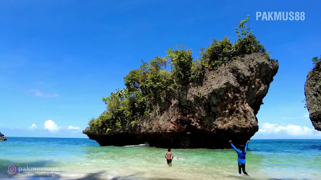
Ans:
{"label": "bright blue sky with small clouds behind the rock islets", "polygon": [[[86,137],[102,96],[123,88],[141,60],[185,44],[198,57],[213,38],[251,30],[280,68],[253,138],[321,138],[302,100],[311,58],[321,54],[317,1],[1,1],[0,131],[6,136]],[[305,12],[305,20],[256,20],[256,12]]]}

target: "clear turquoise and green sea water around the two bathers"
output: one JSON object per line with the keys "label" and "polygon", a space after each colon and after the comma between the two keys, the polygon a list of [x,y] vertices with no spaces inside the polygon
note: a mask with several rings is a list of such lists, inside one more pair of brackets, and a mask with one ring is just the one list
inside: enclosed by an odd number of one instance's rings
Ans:
{"label": "clear turquoise and green sea water around the two bathers", "polygon": [[[144,144],[100,147],[90,139],[8,137],[0,150],[0,179],[8,180],[321,180],[321,140],[251,140],[249,177],[238,175],[234,150],[172,149],[180,157],[172,167],[166,149]],[[7,174],[9,165],[17,174]]]}

